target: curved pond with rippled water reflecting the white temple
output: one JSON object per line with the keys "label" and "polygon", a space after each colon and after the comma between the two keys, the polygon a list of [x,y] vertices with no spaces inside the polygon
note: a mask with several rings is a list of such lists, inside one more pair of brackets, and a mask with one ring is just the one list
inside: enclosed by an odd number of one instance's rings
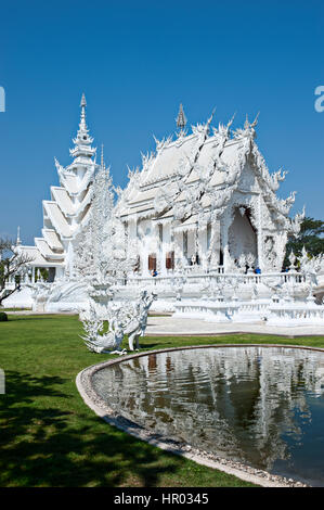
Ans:
{"label": "curved pond with rippled water reflecting the white temple", "polygon": [[324,353],[205,347],[100,370],[96,393],[154,433],[324,486]]}

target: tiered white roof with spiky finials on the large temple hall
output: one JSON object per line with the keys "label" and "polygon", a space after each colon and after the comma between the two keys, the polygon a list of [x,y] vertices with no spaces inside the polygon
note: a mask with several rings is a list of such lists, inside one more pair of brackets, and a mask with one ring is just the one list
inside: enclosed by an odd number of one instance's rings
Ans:
{"label": "tiered white roof with spiky finials on the large temple hall", "polygon": [[177,118],[180,131],[157,141],[156,152],[143,156],[143,167],[130,173],[130,181],[120,193],[117,211],[124,221],[152,218],[178,220],[179,227],[190,228],[197,221],[206,224],[220,217],[237,192],[261,194],[271,221],[286,232],[298,230],[301,215],[288,216],[295,193],[280,200],[276,191],[285,174],[270,174],[255,142],[254,123],[246,119],[243,129],[226,126],[211,127],[212,115],[206,124],[184,131],[182,105]]}

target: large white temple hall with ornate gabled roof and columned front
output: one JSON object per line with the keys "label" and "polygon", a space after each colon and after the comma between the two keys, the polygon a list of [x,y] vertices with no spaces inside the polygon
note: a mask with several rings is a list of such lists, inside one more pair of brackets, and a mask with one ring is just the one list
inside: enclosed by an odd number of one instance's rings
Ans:
{"label": "large white temple hall with ornate gabled roof and columned front", "polygon": [[246,120],[233,138],[231,123],[210,123],[157,141],[156,154],[143,156],[121,193],[116,212],[137,241],[142,275],[193,264],[228,272],[247,257],[262,272],[282,270],[287,235],[303,217],[288,216],[295,193],[275,195],[285,173],[269,174],[256,122]]}

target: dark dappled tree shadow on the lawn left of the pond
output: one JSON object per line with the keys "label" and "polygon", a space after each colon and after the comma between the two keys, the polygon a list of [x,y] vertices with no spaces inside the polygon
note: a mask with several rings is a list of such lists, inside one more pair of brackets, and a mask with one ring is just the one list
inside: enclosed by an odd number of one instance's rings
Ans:
{"label": "dark dappled tree shadow on the lawn left of the pond", "polygon": [[156,486],[163,473],[172,475],[181,464],[182,459],[111,428],[90,410],[79,411],[76,401],[69,405],[68,398],[76,397],[64,392],[66,380],[15,371],[5,375],[1,486],[119,486],[131,480]]}

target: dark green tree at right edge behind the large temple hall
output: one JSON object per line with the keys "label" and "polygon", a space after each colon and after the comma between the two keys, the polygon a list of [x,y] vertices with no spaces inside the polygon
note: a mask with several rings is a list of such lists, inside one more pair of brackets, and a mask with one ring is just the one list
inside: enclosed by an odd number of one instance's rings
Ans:
{"label": "dark green tree at right edge behind the large temple hall", "polygon": [[313,257],[324,253],[324,221],[310,217],[303,219],[297,238],[290,238],[287,242],[284,265],[289,266],[288,256],[291,251],[300,256],[303,246]]}

